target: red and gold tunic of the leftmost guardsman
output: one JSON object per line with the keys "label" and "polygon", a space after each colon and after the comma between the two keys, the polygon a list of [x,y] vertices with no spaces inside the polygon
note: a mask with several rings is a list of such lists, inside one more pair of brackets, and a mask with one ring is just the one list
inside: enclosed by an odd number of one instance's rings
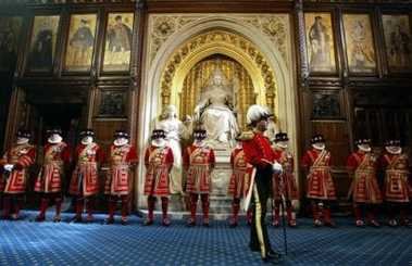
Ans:
{"label": "red and gold tunic of the leftmost guardsman", "polygon": [[0,175],[0,192],[16,194],[26,191],[26,182],[28,179],[27,168],[35,163],[36,149],[30,144],[21,144],[11,148],[5,152],[0,166],[13,164],[14,167],[22,169],[13,169],[7,178],[4,173]]}

